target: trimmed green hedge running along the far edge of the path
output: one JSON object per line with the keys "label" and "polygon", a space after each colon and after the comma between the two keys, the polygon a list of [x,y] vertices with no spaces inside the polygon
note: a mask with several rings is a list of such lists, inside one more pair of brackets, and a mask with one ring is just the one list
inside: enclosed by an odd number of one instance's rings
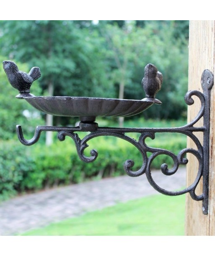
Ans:
{"label": "trimmed green hedge running along the far edge of the path", "polygon": [[[175,135],[172,140],[170,135],[162,135],[155,140],[147,139],[146,142],[151,147],[166,148],[174,153],[186,147],[186,137],[183,135]],[[90,156],[90,150],[95,148],[98,158],[87,164],[78,158],[74,142],[69,137],[63,142],[55,141],[50,147],[39,143],[26,147],[19,142],[1,141],[0,198],[92,178],[122,175],[123,164],[127,159],[135,162],[133,170],[142,165],[140,152],[124,140],[98,137],[88,144],[85,155]],[[160,168],[164,162],[171,165],[172,159],[165,155],[159,156],[151,167]]]}

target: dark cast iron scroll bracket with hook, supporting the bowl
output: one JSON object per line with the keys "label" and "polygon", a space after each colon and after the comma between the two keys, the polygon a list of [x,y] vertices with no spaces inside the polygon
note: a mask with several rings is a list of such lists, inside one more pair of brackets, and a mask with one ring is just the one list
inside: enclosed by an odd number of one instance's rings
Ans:
{"label": "dark cast iron scroll bracket with hook, supporting the bowl", "polygon": [[[202,73],[202,92],[197,90],[192,90],[187,92],[185,95],[185,102],[187,105],[192,105],[194,100],[192,96],[197,96],[201,101],[201,108],[199,113],[189,124],[186,124],[182,127],[176,128],[110,128],[110,127],[98,127],[98,124],[94,121],[81,121],[78,127],[48,127],[48,126],[39,126],[36,127],[36,131],[34,137],[31,140],[26,140],[23,137],[23,132],[21,126],[17,126],[17,134],[18,138],[24,145],[33,145],[39,140],[40,134],[42,131],[53,131],[58,132],[58,139],[60,141],[65,140],[66,136],[69,136],[73,139],[78,156],[82,161],[86,163],[90,163],[95,161],[98,153],[96,150],[91,150],[91,156],[86,157],[84,155],[85,148],[88,147],[87,142],[94,137],[98,136],[114,136],[119,137],[123,140],[128,141],[132,145],[134,145],[142,155],[142,166],[138,171],[132,171],[132,167],[134,166],[134,162],[130,159],[125,161],[124,163],[124,170],[125,172],[131,177],[137,177],[142,174],[146,174],[146,177],[155,190],[164,195],[181,195],[184,193],[190,193],[191,197],[196,201],[202,201],[202,211],[203,214],[208,214],[208,177],[209,177],[209,139],[210,139],[210,90],[213,86],[213,74],[209,70],[205,70]],[[201,127],[194,127],[200,118],[204,119],[203,126]],[[78,137],[78,134],[75,132],[82,132],[87,131],[90,132],[89,135],[86,135],[82,140]],[[125,133],[136,132],[140,134],[139,140],[136,141],[135,139],[125,135]],[[195,145],[197,146],[197,150],[193,148],[184,148],[181,150],[177,155],[174,153],[161,149],[161,148],[150,148],[145,143],[145,139],[150,137],[151,139],[155,138],[156,133],[162,132],[176,132],[187,135],[190,137]],[[202,132],[203,133],[203,144],[200,143],[199,139],[194,135],[194,132]],[[148,157],[147,152],[150,152],[151,155]],[[198,162],[199,162],[199,169],[197,172],[197,177],[194,180],[193,184],[189,187],[180,190],[180,191],[168,191],[161,187],[159,187],[152,175],[150,170],[150,165],[154,158],[158,155],[164,154],[170,156],[174,161],[174,166],[172,169],[168,169],[166,164],[161,165],[161,171],[165,175],[173,175],[177,172],[179,165],[187,164],[188,160],[185,157],[186,153],[193,154]],[[199,181],[203,177],[203,191],[201,195],[196,195],[195,189],[199,184]]]}

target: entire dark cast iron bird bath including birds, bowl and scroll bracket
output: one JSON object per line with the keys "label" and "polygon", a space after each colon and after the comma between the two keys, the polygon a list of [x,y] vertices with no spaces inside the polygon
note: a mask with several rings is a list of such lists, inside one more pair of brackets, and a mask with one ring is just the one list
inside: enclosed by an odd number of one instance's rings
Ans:
{"label": "entire dark cast iron bird bath including birds, bowl and scroll bracket", "polygon": [[[86,97],[41,97],[30,94],[30,87],[34,80],[40,77],[40,70],[34,67],[27,74],[18,71],[18,67],[12,61],[4,61],[3,67],[8,76],[10,84],[19,90],[20,94],[16,96],[19,99],[25,99],[34,108],[56,116],[78,116],[80,123],[77,127],[49,127],[38,126],[35,129],[34,137],[26,140],[23,137],[22,128],[17,125],[16,130],[18,138],[24,145],[33,145],[39,140],[42,131],[53,131],[58,133],[60,141],[65,137],[71,137],[75,143],[79,158],[86,163],[96,160],[98,152],[91,150],[91,156],[85,156],[84,150],[88,147],[87,142],[92,138],[99,136],[114,136],[126,140],[134,145],[142,155],[142,166],[139,170],[133,171],[134,161],[128,159],[124,162],[124,170],[131,177],[137,177],[145,174],[150,185],[164,195],[182,195],[189,193],[196,201],[202,201],[203,214],[208,213],[208,173],[209,173],[209,138],[210,138],[210,90],[213,86],[213,74],[208,69],[202,73],[201,85],[202,92],[197,90],[189,91],[185,95],[187,105],[194,104],[192,96],[197,96],[201,101],[201,108],[197,116],[188,124],[176,128],[115,128],[98,127],[95,122],[97,116],[132,116],[146,110],[153,104],[161,104],[160,100],[155,99],[155,94],[161,89],[163,80],[162,74],[153,64],[145,67],[145,76],[142,79],[142,87],[145,90],[146,98],[142,100],[121,100],[109,98],[86,98]],[[203,118],[203,126],[197,126],[199,119]],[[83,139],[80,139],[75,132],[90,132]],[[139,140],[135,140],[125,133],[136,132]],[[191,138],[196,148],[184,148],[178,154],[162,148],[151,148],[145,140],[150,137],[155,139],[156,133],[171,132],[181,133]],[[196,132],[202,132],[203,143],[196,136]],[[148,156],[147,153],[150,153]],[[199,163],[197,176],[194,182],[188,187],[179,191],[169,191],[159,187],[151,175],[151,163],[159,155],[166,155],[172,158],[174,165],[168,169],[167,164],[161,164],[161,172],[165,175],[175,174],[181,164],[186,165],[188,159],[187,153],[194,155]],[[203,178],[202,194],[195,193],[200,179]]]}

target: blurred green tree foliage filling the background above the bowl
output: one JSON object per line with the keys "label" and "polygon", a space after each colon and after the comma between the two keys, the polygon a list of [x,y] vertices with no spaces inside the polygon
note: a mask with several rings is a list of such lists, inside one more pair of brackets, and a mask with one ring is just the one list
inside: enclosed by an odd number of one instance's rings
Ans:
{"label": "blurred green tree foliage filling the background above the bowl", "polygon": [[[53,95],[117,98],[120,85],[124,98],[141,99],[145,96],[141,86],[144,67],[153,63],[163,73],[157,95],[163,105],[149,108],[144,116],[179,119],[186,113],[182,99],[188,80],[189,21],[0,24],[2,54],[28,63],[29,68],[39,66],[39,84],[49,93],[53,89]],[[61,120],[62,125],[68,122]]]}

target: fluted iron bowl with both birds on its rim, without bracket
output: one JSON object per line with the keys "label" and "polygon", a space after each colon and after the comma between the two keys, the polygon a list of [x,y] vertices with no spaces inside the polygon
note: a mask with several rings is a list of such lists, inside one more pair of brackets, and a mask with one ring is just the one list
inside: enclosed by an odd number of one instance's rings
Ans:
{"label": "fluted iron bowl with both birds on its rim, without bracket", "polygon": [[13,61],[3,61],[3,68],[10,84],[20,92],[16,98],[25,99],[39,111],[54,116],[78,116],[80,121],[93,122],[97,116],[133,116],[141,113],[154,103],[161,104],[161,101],[155,99],[154,96],[161,89],[162,74],[153,64],[148,64],[145,67],[142,86],[147,98],[142,100],[35,96],[30,94],[30,87],[32,82],[41,75],[39,67],[32,68],[27,74],[19,71]]}

